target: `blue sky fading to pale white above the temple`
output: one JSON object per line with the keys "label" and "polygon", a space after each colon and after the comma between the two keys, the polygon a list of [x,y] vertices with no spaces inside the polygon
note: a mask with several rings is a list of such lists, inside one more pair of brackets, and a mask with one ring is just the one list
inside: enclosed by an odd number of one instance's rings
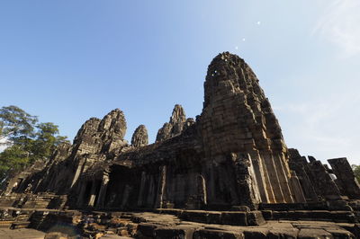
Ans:
{"label": "blue sky fading to pale white above the temple", "polygon": [[18,0],[0,2],[0,106],[17,105],[73,138],[124,111],[150,142],[175,103],[202,111],[222,51],[245,58],[287,146],[360,164],[359,0]]}

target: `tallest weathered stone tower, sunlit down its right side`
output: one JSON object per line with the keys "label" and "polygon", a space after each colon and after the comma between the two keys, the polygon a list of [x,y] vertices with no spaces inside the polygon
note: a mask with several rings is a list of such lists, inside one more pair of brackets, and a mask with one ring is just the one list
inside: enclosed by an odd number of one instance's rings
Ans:
{"label": "tallest weathered stone tower, sunlit down its right side", "polygon": [[251,68],[221,53],[208,67],[204,90],[200,121],[207,157],[248,154],[262,201],[293,202],[282,130]]}

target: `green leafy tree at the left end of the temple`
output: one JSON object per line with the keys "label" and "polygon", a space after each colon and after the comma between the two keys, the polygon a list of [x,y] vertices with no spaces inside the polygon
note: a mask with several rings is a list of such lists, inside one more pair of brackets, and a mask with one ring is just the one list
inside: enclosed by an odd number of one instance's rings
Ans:
{"label": "green leafy tree at the left end of the temple", "polygon": [[0,181],[37,160],[48,160],[55,147],[66,142],[58,126],[39,123],[38,117],[11,105],[0,109],[0,139],[7,147],[0,153]]}

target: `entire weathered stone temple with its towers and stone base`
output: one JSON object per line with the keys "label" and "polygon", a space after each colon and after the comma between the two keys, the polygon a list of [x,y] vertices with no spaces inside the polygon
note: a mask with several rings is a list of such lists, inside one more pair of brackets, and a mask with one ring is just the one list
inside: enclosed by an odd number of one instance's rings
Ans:
{"label": "entire weathered stone temple with its towers and stone base", "polygon": [[[257,76],[229,52],[211,61],[203,109],[175,105],[148,144],[119,109],[8,181],[3,224],[136,238],[360,238],[360,188],[346,158],[287,148]],[[89,219],[90,218],[90,219]],[[0,221],[1,222],[1,221]]]}

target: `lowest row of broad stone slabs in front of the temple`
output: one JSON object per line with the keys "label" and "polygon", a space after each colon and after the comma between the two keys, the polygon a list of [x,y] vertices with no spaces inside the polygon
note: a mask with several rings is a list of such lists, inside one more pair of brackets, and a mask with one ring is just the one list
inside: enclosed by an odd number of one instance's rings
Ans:
{"label": "lowest row of broad stone slabs in front of the temple", "polygon": [[[316,222],[314,222],[316,224]],[[139,238],[193,238],[193,239],[257,239],[257,238],[299,238],[299,239],[315,239],[315,238],[358,238],[351,232],[338,226],[328,226],[324,229],[317,227],[300,225],[293,226],[229,226],[203,228],[202,226],[163,226],[149,223],[142,223],[138,226],[137,232]]]}

